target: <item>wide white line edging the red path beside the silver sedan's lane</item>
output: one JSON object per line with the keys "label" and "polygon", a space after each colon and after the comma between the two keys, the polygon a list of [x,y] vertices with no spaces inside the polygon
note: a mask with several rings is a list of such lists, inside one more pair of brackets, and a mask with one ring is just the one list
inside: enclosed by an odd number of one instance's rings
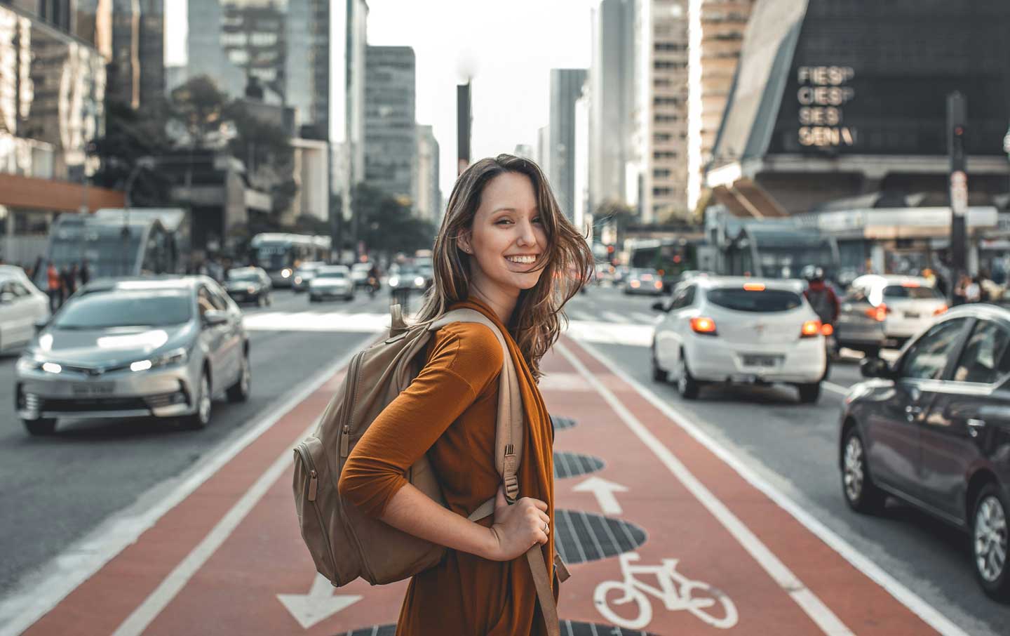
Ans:
{"label": "wide white line edging the red path beside the silver sedan's lane", "polygon": [[[136,543],[137,538],[166,513],[346,366],[362,345],[368,342],[371,338],[352,345],[347,355],[309,378],[301,389],[291,391],[287,399],[282,397],[283,401],[254,422],[247,432],[237,438],[222,440],[213,453],[208,451],[203,461],[178,477],[153,486],[140,494],[134,505],[111,516],[54,557],[36,574],[19,581],[17,589],[0,603],[0,636],[17,636],[28,629],[117,554]],[[152,506],[150,502],[157,504]]]}

